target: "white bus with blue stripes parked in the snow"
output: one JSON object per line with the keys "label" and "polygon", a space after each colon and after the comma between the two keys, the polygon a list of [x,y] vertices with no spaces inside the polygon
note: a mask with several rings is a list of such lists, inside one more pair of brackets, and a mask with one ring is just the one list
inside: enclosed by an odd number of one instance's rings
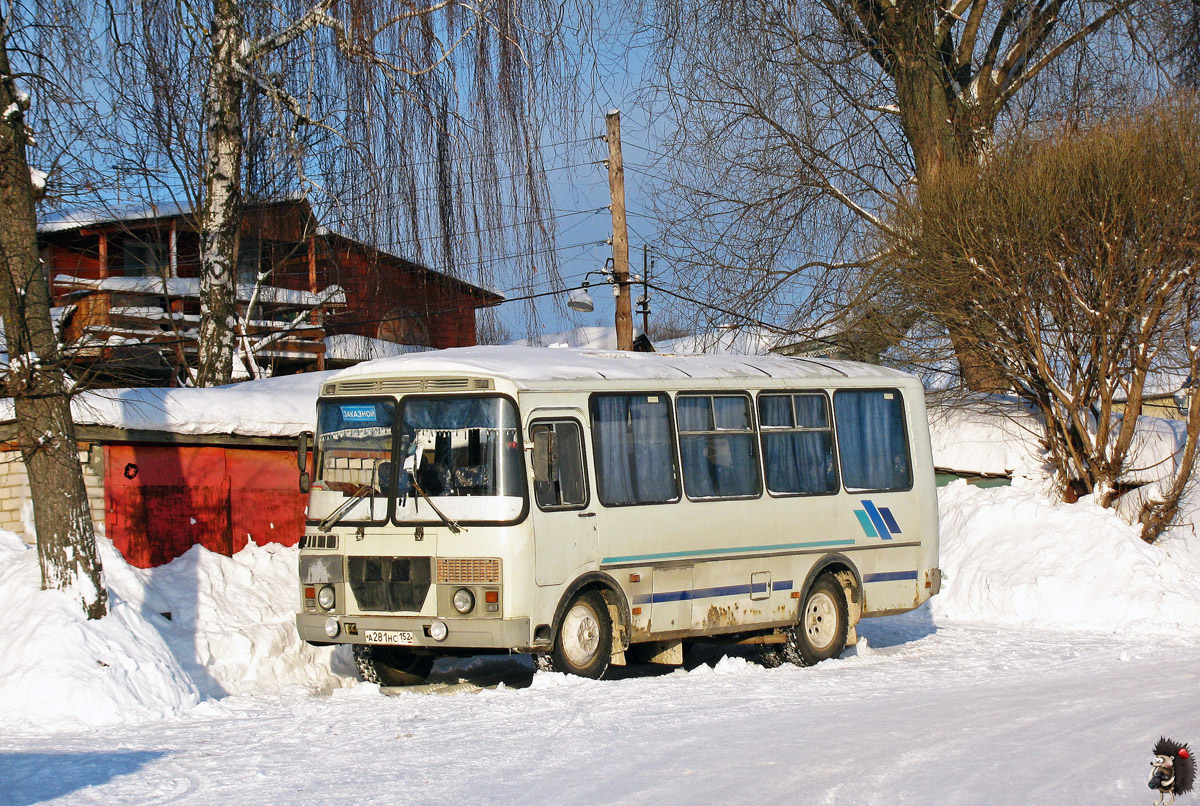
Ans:
{"label": "white bus with blue stripes parked in the snow", "polygon": [[383,685],[696,639],[806,666],[941,585],[924,395],[893,369],[462,348],[332,375],[317,421],[296,626]]}

